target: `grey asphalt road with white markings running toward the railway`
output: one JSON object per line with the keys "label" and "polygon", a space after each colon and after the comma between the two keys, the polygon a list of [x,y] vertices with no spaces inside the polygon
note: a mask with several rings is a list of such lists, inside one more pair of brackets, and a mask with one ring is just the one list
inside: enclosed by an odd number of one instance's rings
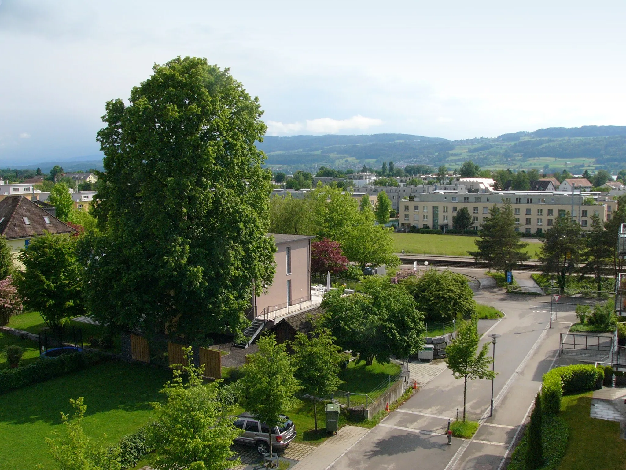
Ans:
{"label": "grey asphalt road with white markings running toward the railway", "polygon": [[[567,331],[569,322],[575,321],[573,306],[563,306],[559,315],[563,323],[555,321],[549,330],[548,297],[483,290],[475,298],[506,314],[489,332],[501,335],[496,344],[493,417],[488,417],[491,382],[468,382],[467,417],[485,419],[472,440],[453,438],[448,446],[444,436],[448,419],[454,419],[457,409],[461,417],[463,414],[463,380],[454,379],[446,370],[374,427],[332,469],[503,468],[503,457],[527,417],[543,373],[558,352],[558,333]],[[483,337],[483,342],[491,342],[491,338]]]}

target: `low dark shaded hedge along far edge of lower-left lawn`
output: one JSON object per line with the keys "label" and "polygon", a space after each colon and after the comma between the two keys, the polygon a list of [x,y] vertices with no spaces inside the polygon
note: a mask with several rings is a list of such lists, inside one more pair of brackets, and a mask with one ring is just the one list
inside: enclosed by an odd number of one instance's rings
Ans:
{"label": "low dark shaded hedge along far edge of lower-left lawn", "polygon": [[61,377],[90,365],[103,362],[106,356],[100,353],[72,353],[59,357],[41,358],[34,364],[0,370],[0,394],[27,385]]}

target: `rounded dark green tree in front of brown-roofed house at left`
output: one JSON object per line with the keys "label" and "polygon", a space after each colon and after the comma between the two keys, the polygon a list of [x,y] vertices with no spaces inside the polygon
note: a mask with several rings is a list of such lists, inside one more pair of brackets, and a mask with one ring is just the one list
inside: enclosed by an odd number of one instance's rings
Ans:
{"label": "rounded dark green tree in front of brown-roofed house at left", "polygon": [[76,241],[64,235],[45,234],[31,239],[19,254],[24,271],[15,284],[28,310],[41,313],[50,328],[85,313],[81,293],[83,268],[76,256]]}

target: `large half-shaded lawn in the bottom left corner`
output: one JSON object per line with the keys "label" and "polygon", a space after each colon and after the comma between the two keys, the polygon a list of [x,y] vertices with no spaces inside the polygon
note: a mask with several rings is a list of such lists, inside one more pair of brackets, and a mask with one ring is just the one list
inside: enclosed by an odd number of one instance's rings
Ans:
{"label": "large half-shaded lawn in the bottom left corner", "polygon": [[59,412],[72,411],[70,398],[85,397],[87,436],[117,442],[148,421],[150,402],[162,399],[158,390],[170,377],[167,370],[106,362],[0,395],[0,470],[56,468],[45,438],[61,426]]}

